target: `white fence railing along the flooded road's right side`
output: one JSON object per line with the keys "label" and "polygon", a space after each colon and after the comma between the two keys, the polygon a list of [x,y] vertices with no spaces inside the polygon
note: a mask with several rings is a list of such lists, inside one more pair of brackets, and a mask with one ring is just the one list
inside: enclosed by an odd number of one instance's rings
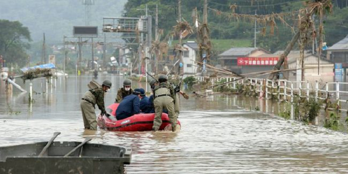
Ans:
{"label": "white fence railing along the flooded road's right side", "polygon": [[[198,82],[211,82],[212,85],[217,85],[221,82],[227,83],[226,86],[232,89],[237,87],[249,87],[259,93],[259,96],[263,96],[265,91],[265,98],[270,99],[271,96],[276,96],[279,100],[285,100],[287,102],[293,102],[295,96],[305,97],[309,100],[310,96],[315,96],[315,99],[331,99],[334,102],[347,103],[348,91],[342,89],[348,89],[348,83],[343,82],[326,82],[322,83],[319,81],[287,81],[287,80],[266,80],[266,79],[254,79],[247,78],[238,80],[238,78],[222,77],[222,78],[207,78],[207,77],[196,77]],[[314,87],[313,87],[314,85]],[[263,88],[265,86],[265,90]],[[341,89],[341,90],[340,90]],[[340,104],[341,105],[341,104]],[[346,109],[341,109],[345,110]]]}

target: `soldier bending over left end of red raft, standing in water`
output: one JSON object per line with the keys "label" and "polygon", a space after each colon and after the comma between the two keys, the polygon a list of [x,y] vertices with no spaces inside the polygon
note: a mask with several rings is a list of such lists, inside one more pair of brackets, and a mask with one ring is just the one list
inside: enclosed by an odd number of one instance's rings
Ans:
{"label": "soldier bending over left end of red raft, standing in water", "polygon": [[[108,91],[111,87],[111,82],[105,80],[100,87],[89,89],[81,100],[81,111],[84,119],[85,129],[96,130],[96,115],[95,115],[95,104],[101,111],[101,114],[106,114],[104,105],[104,92]],[[89,86],[88,86],[89,87]]]}

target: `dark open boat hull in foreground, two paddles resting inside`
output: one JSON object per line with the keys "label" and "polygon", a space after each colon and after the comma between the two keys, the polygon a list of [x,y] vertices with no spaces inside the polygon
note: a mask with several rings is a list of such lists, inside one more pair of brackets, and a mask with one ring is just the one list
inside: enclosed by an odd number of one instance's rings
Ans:
{"label": "dark open boat hull in foreground, two paddles resting inside", "polygon": [[63,156],[81,142],[53,142],[38,157],[47,142],[0,147],[0,174],[123,174],[130,164],[130,149],[87,143]]}

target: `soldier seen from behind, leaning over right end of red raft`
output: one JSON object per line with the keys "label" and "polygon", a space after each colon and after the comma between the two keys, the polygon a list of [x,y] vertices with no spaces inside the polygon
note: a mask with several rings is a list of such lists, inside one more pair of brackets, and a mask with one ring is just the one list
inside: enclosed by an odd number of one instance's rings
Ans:
{"label": "soldier seen from behind, leaning over right end of red raft", "polygon": [[172,131],[174,132],[176,129],[176,114],[174,112],[175,91],[173,86],[167,82],[166,75],[160,75],[158,81],[160,85],[153,89],[155,118],[152,129],[158,131],[162,125],[162,111],[167,109],[169,120],[172,124]]}

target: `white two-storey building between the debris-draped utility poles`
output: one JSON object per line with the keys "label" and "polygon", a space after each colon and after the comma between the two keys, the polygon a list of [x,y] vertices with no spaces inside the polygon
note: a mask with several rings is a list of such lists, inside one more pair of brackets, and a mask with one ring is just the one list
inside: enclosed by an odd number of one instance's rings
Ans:
{"label": "white two-storey building between the debris-draped utility poles", "polygon": [[182,53],[183,76],[186,77],[195,75],[197,73],[197,63],[195,63],[194,61],[196,61],[198,45],[195,42],[187,42],[182,44],[182,46],[185,48]]}

